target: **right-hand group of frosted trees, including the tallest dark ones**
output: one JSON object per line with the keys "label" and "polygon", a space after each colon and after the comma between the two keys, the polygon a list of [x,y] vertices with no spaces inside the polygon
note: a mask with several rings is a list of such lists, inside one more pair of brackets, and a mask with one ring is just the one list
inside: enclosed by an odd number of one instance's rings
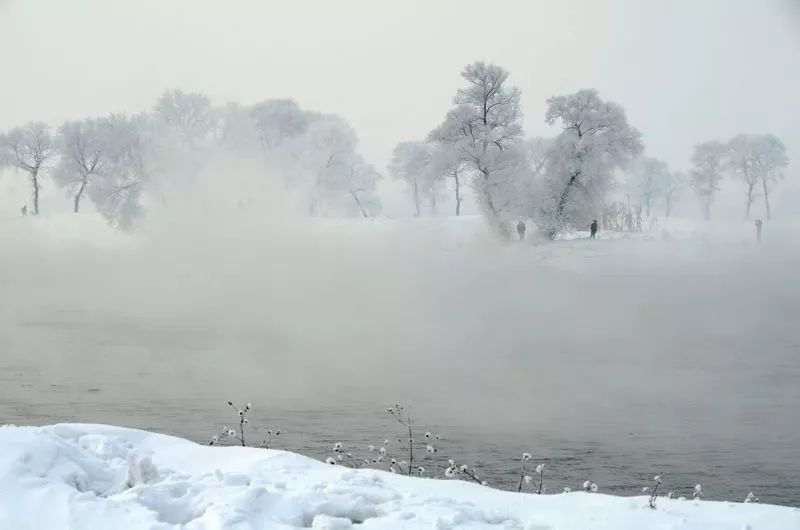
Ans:
{"label": "right-hand group of frosted trees, including the tallest dark ones", "polygon": [[547,100],[544,120],[557,127],[552,138],[525,138],[520,92],[508,72],[476,62],[462,72],[464,86],[444,121],[426,138],[401,142],[389,171],[407,183],[416,214],[435,213],[448,183],[461,213],[465,184],[482,212],[502,234],[514,219],[533,219],[550,238],[586,226],[609,207],[618,177],[640,199],[647,216],[663,200],[670,215],[684,189],[692,189],[710,216],[725,175],[746,185],[747,215],[760,189],[769,218],[769,196],[787,166],[783,143],[772,135],[739,135],[727,143],[696,146],[687,174],[643,154],[641,134],[624,109],[580,90]]}

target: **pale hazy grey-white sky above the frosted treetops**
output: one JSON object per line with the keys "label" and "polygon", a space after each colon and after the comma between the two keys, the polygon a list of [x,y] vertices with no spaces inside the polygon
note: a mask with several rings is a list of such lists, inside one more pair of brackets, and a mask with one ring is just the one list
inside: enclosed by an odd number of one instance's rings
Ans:
{"label": "pale hazy grey-white sky above the frosted treetops", "polygon": [[487,59],[522,89],[529,134],[548,96],[596,87],[675,166],[737,132],[800,158],[798,0],[0,0],[0,49],[0,129],[142,110],[171,87],[292,97],[350,120],[383,167]]}

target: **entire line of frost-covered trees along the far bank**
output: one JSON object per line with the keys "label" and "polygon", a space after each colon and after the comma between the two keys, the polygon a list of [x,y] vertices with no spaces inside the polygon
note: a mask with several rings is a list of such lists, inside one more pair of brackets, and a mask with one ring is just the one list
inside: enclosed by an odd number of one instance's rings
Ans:
{"label": "entire line of frost-covered trees along the far bank", "polygon": [[[763,200],[770,218],[770,195],[788,165],[776,136],[703,142],[691,153],[691,169],[681,172],[646,156],[625,109],[596,90],[549,98],[544,121],[557,134],[527,138],[521,94],[508,71],[479,61],[461,76],[444,120],[424,139],[400,142],[388,167],[407,185],[416,215],[442,212],[448,193],[455,208],[442,213],[460,215],[471,194],[499,235],[528,219],[554,239],[593,218],[613,224],[606,220],[625,210],[616,202],[621,195],[628,219],[632,199],[641,219],[642,210],[654,215],[657,204],[669,217],[692,191],[710,219],[727,176],[741,185],[746,217]],[[173,90],[136,115],[22,125],[0,136],[0,149],[0,164],[30,182],[23,215],[40,213],[47,179],[63,189],[73,212],[89,201],[123,229],[135,227],[148,204],[168,205],[200,182],[239,206],[278,193],[311,216],[381,212],[383,175],[359,153],[355,130],[340,116],[304,110],[291,99],[214,106],[204,94]]]}

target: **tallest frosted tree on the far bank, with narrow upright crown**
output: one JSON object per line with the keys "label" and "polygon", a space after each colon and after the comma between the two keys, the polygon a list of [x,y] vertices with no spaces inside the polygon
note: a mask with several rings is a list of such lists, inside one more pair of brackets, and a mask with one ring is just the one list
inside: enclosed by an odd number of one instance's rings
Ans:
{"label": "tallest frosted tree on the far bank, with narrow upright crown", "polygon": [[461,77],[466,87],[456,93],[456,106],[429,137],[464,161],[475,175],[481,207],[492,225],[502,229],[506,216],[498,195],[508,179],[500,174],[508,171],[509,149],[522,137],[520,92],[508,85],[508,72],[495,64],[475,62]]}

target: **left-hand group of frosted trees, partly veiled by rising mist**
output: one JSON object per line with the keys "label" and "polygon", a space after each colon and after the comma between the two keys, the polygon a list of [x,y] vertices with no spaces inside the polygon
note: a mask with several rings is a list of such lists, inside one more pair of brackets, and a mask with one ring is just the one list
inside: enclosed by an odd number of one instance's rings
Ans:
{"label": "left-hand group of frosted trees, partly veiled by rising mist", "polygon": [[215,107],[203,94],[175,90],[152,112],[68,121],[56,130],[32,122],[0,135],[3,168],[29,181],[30,213],[40,212],[43,180],[50,179],[75,213],[88,199],[123,228],[142,217],[148,196],[186,193],[209,179],[235,189],[248,170],[295,192],[312,215],[380,212],[381,175],[359,154],[353,128],[292,100]]}

